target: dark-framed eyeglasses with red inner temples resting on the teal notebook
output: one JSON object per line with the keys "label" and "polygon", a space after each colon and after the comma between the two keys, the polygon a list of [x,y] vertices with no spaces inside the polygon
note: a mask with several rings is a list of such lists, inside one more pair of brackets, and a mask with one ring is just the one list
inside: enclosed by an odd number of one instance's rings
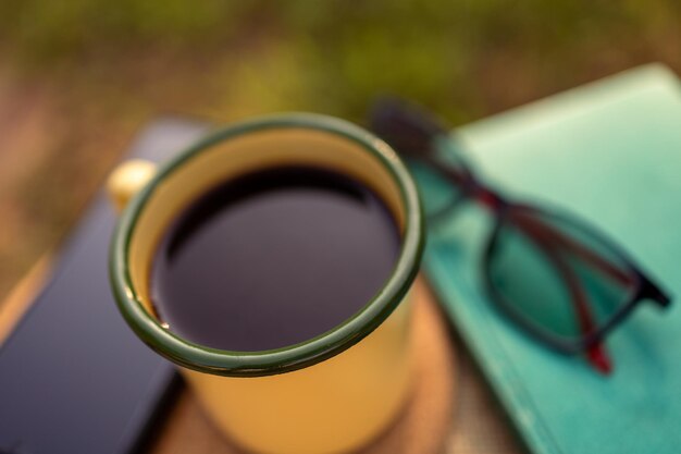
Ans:
{"label": "dark-framed eyeglasses with red inner temples resting on the teal notebook", "polygon": [[463,201],[494,216],[483,253],[488,299],[527,333],[561,353],[585,353],[592,366],[612,368],[605,335],[641,302],[671,299],[603,234],[565,214],[509,200],[485,185],[435,119],[398,100],[379,102],[374,132],[416,172],[426,172],[422,194],[429,222],[451,216]]}

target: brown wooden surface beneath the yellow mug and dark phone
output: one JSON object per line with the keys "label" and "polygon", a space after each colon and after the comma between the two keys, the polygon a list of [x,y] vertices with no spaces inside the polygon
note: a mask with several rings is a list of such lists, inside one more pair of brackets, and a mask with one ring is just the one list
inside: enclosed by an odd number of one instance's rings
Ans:
{"label": "brown wooden surface beneath the yellow mug and dark phone", "polygon": [[[42,259],[0,306],[0,346],[49,275]],[[417,371],[414,390],[396,421],[364,454],[520,453],[470,357],[449,332],[432,293],[416,285],[413,317]],[[163,415],[150,454],[243,454],[210,424],[190,391],[183,389]]]}

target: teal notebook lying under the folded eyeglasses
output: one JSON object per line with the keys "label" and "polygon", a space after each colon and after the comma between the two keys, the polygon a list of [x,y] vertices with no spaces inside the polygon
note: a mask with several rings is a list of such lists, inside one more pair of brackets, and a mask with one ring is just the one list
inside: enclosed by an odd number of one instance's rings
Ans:
{"label": "teal notebook lying under the folded eyeglasses", "polygon": [[[676,299],[608,338],[611,376],[541,346],[481,292],[490,219],[467,207],[430,232],[424,270],[529,451],[681,452],[681,90],[635,69],[457,131],[509,195],[573,212],[624,246]],[[419,181],[429,184],[429,181]]]}

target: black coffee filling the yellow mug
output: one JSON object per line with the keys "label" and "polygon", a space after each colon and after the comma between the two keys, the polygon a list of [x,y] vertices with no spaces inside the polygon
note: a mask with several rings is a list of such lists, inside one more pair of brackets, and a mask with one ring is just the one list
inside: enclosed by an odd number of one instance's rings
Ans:
{"label": "black coffee filling the yellow mug", "polygon": [[170,225],[151,297],[176,334],[277,348],[332,329],[383,286],[399,251],[383,201],[339,173],[283,167],[230,181]]}

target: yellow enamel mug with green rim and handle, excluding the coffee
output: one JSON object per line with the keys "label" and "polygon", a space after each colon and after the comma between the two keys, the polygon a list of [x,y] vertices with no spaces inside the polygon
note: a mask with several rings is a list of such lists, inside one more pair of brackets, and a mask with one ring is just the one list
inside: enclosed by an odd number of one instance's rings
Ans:
{"label": "yellow enamel mug with green rim and handle, excluding the coffee", "polygon": [[[231,352],[174,334],[156,317],[149,297],[152,259],[165,228],[221,182],[285,164],[333,169],[385,201],[401,233],[391,277],[350,319],[299,344]],[[121,210],[110,277],[123,317],[145,343],[179,366],[206,413],[235,442],[268,454],[347,452],[397,415],[412,376],[408,293],[424,229],[416,185],[384,142],[342,120],[282,114],[218,131],[159,168],[123,163],[109,192]]]}

